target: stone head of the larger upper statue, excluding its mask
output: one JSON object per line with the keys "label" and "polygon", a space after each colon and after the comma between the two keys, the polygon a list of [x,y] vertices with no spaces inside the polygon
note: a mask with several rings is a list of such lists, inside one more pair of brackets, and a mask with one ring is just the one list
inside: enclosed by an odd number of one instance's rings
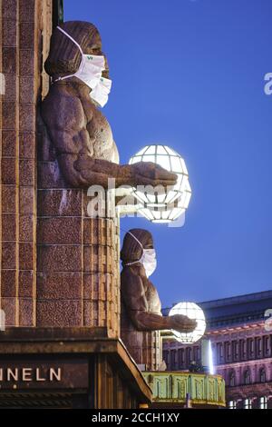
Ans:
{"label": "stone head of the larger upper statue, excluding its mask", "polygon": [[[60,27],[82,47],[83,54],[104,55],[101,36],[94,25],[83,21],[68,21],[61,24]],[[106,70],[102,75],[107,78],[109,69],[107,58],[105,55],[104,57]],[[44,64],[46,73],[49,75],[74,74],[81,61],[82,55],[78,46],[58,28],[55,28],[51,37],[50,52]]]}

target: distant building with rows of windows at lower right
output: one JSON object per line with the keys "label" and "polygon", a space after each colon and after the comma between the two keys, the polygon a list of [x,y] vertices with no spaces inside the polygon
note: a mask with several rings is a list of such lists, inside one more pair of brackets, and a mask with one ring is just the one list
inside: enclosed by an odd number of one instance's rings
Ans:
{"label": "distant building with rows of windows at lower right", "polygon": [[[272,291],[199,303],[212,343],[215,372],[226,382],[231,409],[272,409]],[[169,309],[164,310],[165,313]],[[200,342],[184,345],[164,340],[163,358],[170,371],[186,371],[201,362]]]}

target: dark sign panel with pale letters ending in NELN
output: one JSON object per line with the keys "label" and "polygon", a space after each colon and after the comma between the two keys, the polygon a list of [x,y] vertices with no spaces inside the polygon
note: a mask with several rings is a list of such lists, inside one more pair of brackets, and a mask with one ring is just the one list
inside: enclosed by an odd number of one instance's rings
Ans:
{"label": "dark sign panel with pale letters ending in NELN", "polygon": [[88,362],[10,362],[0,360],[0,390],[88,388]]}

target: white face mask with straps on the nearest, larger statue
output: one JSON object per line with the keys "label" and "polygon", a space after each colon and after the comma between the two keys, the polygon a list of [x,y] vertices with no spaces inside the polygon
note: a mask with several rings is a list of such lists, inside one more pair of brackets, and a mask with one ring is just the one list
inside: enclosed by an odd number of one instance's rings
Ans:
{"label": "white face mask with straps on the nearest, larger statue", "polygon": [[68,33],[66,33],[66,31],[64,31],[60,26],[57,26],[57,29],[77,45],[82,54],[82,62],[76,73],[59,77],[55,82],[75,76],[93,89],[100,83],[100,79],[102,78],[102,71],[105,69],[105,58],[102,55],[84,55],[81,45],[79,45],[71,35],[68,35]]}

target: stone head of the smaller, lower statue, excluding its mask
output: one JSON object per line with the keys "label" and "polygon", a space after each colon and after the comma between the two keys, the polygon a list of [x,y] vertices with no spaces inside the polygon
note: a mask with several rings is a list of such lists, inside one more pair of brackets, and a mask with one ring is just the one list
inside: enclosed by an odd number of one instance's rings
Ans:
{"label": "stone head of the smaller, lower statue, excluding its mask", "polygon": [[132,228],[125,234],[123,239],[121,248],[122,263],[132,263],[140,260],[142,255],[141,246],[143,249],[153,248],[152,234],[147,230],[142,230],[141,228]]}

